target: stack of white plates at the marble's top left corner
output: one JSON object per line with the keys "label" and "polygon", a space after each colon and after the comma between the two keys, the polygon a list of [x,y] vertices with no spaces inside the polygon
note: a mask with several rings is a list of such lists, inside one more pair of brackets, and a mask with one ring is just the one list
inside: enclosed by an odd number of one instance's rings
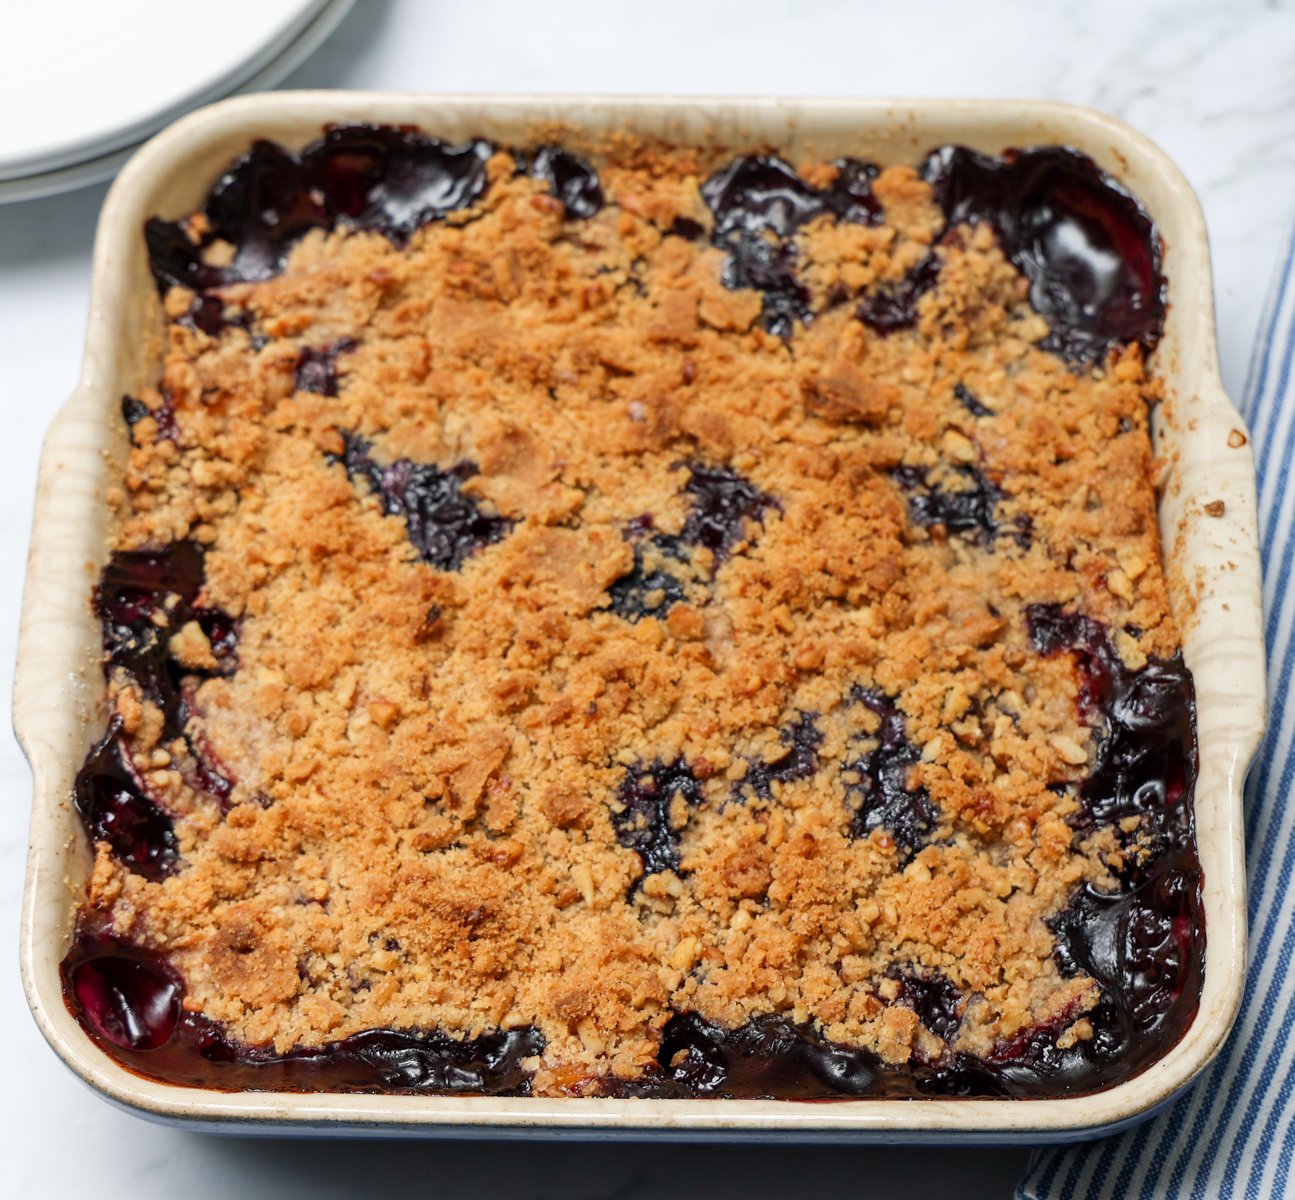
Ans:
{"label": "stack of white plates at the marble's top left corner", "polygon": [[295,70],[352,0],[51,0],[0,30],[0,203],[107,179],[202,104]]}

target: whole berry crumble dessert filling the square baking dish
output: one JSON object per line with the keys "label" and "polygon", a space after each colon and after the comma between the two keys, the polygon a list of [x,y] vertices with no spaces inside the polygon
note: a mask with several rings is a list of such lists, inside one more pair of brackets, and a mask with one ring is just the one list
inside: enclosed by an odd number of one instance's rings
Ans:
{"label": "whole berry crumble dessert filling the square baking dish", "polygon": [[1146,214],[584,153],[339,127],[149,223],[73,1011],[224,1089],[1141,1071],[1203,948]]}

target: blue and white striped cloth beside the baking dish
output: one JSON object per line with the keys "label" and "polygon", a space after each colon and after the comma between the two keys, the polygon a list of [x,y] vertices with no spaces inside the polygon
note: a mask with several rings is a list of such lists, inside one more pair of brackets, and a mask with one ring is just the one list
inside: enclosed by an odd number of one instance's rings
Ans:
{"label": "blue and white striped cloth beside the baking dish", "polygon": [[1295,1196],[1295,225],[1259,330],[1241,408],[1259,472],[1269,726],[1246,787],[1251,941],[1241,1016],[1182,1099],[1127,1134],[1037,1151],[1017,1200]]}

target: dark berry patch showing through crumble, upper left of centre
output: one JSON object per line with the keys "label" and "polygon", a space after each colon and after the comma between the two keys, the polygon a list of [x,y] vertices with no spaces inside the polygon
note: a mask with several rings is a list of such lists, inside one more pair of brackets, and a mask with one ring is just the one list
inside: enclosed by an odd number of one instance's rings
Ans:
{"label": "dark berry patch showing through crumble, upper left of centre", "polygon": [[513,522],[483,513],[464,484],[477,474],[473,462],[458,462],[448,470],[398,458],[382,466],[369,457],[369,443],[357,434],[342,434],[346,449],[341,462],[351,479],[366,479],[382,500],[383,511],[403,517],[409,541],[420,557],[442,571],[457,571],[484,546],[500,541]]}

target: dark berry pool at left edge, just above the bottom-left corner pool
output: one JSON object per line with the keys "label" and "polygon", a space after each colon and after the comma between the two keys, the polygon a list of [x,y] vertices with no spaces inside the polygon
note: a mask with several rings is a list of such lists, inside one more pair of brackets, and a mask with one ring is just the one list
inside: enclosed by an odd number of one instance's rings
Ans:
{"label": "dark berry pool at left edge, just above the bottom-left corner pool", "polygon": [[106,841],[113,856],[145,879],[159,880],[180,865],[171,814],[154,800],[122,742],[120,720],[85,759],[73,784],[76,813],[92,843]]}

